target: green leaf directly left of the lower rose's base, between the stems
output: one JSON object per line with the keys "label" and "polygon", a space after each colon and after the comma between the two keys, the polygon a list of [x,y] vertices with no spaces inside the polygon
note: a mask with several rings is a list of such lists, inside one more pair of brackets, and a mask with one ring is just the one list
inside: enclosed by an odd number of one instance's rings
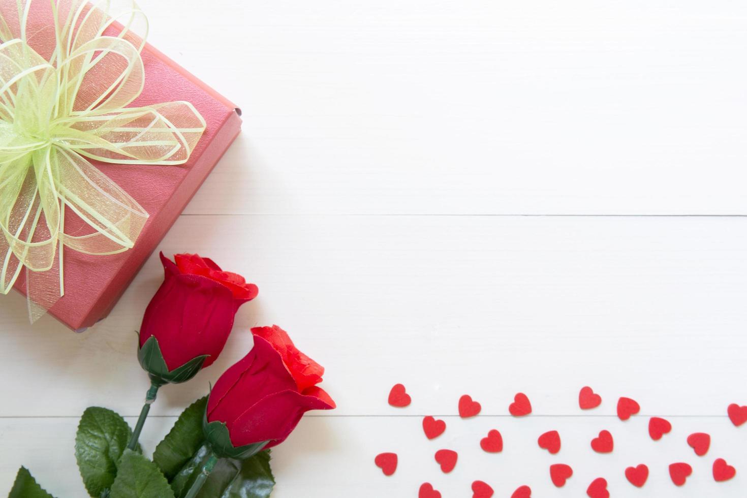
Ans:
{"label": "green leaf directly left of the lower rose's base, between the stems", "polygon": [[202,417],[207,405],[208,396],[193,402],[179,415],[164,441],[155,447],[153,461],[166,479],[174,479],[205,441],[205,436],[202,435]]}

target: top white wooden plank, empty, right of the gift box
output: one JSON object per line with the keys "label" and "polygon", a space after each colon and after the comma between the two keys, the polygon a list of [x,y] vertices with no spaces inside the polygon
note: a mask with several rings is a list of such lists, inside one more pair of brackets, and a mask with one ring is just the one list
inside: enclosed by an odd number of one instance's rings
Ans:
{"label": "top white wooden plank, empty, right of the gift box", "polygon": [[140,3],[244,108],[190,213],[747,212],[744,2]]}

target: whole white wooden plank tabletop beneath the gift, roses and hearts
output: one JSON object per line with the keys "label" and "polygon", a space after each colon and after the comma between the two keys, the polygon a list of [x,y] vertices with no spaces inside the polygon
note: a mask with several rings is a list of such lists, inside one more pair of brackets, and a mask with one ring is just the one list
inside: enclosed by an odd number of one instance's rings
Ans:
{"label": "whole white wooden plank tabletop beneath the gift, roses and hearts", "polygon": [[[468,497],[528,484],[580,497],[743,497],[747,426],[747,4],[728,0],[141,0],[150,41],[244,110],[244,131],[161,249],[258,284],[226,350],[165,387],[146,455],[185,405],[277,323],[338,402],[273,450],[273,497]],[[73,439],[89,405],[127,415],[158,284],[150,258],[107,320],[29,326],[2,299],[0,490],[19,465],[85,496]],[[409,408],[387,405],[403,382]],[[580,411],[578,390],[604,401]],[[513,395],[533,403],[509,416]],[[474,420],[456,416],[469,393]],[[616,400],[642,406],[627,423]],[[447,421],[427,441],[421,417]],[[674,429],[648,437],[648,418]],[[489,429],[504,450],[479,447]],[[557,429],[562,450],[536,444]],[[601,429],[610,455],[589,441]],[[709,432],[707,456],[685,442]],[[444,475],[436,449],[459,451]],[[373,465],[400,455],[390,478]],[[715,458],[737,467],[716,483]],[[675,488],[668,464],[694,472]],[[574,476],[555,488],[548,466]],[[648,464],[644,488],[624,478]],[[4,492],[4,491],[2,491]]]}

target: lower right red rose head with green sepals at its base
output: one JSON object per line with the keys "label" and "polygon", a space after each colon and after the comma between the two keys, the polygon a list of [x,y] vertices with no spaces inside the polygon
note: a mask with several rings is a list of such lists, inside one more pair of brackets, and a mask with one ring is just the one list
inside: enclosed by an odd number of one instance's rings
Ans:
{"label": "lower right red rose head with green sepals at its base", "polygon": [[335,402],[316,385],[323,367],[277,326],[252,329],[254,347],[215,383],[205,411],[205,438],[221,458],[248,458],[276,446],[309,410]]}

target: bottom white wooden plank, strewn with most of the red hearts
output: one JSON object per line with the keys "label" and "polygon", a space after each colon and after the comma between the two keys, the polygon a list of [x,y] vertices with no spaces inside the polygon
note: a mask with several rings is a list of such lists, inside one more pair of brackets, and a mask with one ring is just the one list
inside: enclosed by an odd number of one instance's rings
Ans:
{"label": "bottom white wooden plank, strewn with most of the red hearts", "polygon": [[[173,424],[173,417],[152,418],[143,435],[150,455],[158,439]],[[622,423],[610,417],[477,417],[447,418],[447,432],[427,441],[419,417],[306,417],[285,443],[273,449],[273,472],[279,483],[273,498],[417,497],[422,482],[431,482],[444,498],[471,496],[476,479],[488,482],[495,497],[509,497],[519,485],[530,485],[532,496],[586,496],[586,487],[597,477],[609,483],[613,497],[743,497],[747,479],[747,432],[735,429],[726,417],[675,417],[673,429],[661,441],[651,441],[642,418]],[[128,419],[133,424],[134,418]],[[26,464],[37,479],[58,497],[85,496],[72,447],[74,418],[4,419],[0,446],[0,489],[9,489],[17,467]],[[489,455],[479,446],[490,429],[503,435],[503,452]],[[609,429],[616,448],[608,455],[595,454],[589,441],[601,429]],[[539,449],[542,432],[560,432],[562,448],[557,455]],[[686,445],[692,432],[708,432],[713,438],[705,457],[695,456]],[[433,454],[448,448],[459,452],[456,469],[441,473]],[[400,464],[390,478],[373,464],[379,452],[397,452]],[[737,468],[730,482],[716,483],[711,465],[725,458]],[[692,465],[693,474],[682,488],[669,480],[668,466],[675,461]],[[551,484],[551,464],[571,465],[574,476],[562,489]],[[624,478],[626,467],[645,463],[650,476],[645,487],[633,488]]]}

